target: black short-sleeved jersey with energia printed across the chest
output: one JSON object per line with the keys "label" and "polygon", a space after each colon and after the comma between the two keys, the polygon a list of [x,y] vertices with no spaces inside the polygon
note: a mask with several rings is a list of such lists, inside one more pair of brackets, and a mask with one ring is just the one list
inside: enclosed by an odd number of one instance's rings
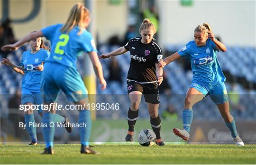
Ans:
{"label": "black short-sleeved jersey with energia printed across the chest", "polygon": [[163,58],[161,48],[151,41],[144,44],[140,38],[132,38],[124,46],[130,51],[131,63],[127,80],[136,82],[156,82],[155,64]]}

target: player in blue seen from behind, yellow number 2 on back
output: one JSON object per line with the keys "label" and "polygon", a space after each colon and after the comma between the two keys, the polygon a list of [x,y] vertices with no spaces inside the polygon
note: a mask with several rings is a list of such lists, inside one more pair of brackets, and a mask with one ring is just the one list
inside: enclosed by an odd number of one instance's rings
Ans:
{"label": "player in blue seen from behind, yellow number 2 on back", "polygon": [[[65,24],[56,24],[48,26],[42,30],[30,33],[15,44],[3,46],[3,50],[16,50],[26,41],[32,38],[45,36],[51,41],[51,56],[46,60],[44,72],[42,74],[42,92],[44,102],[49,105],[57,99],[59,91],[62,90],[69,101],[76,105],[88,103],[88,92],[84,86],[82,78],[76,68],[76,59],[83,51],[88,52],[94,67],[95,74],[102,85],[101,89],[106,88],[106,81],[103,77],[102,66],[98,59],[97,49],[94,40],[85,28],[90,24],[90,11],[81,3],[77,3],[71,9]],[[87,105],[86,105],[87,106]],[[91,112],[85,109],[79,109],[79,127],[81,153],[98,154],[89,146],[91,135]],[[56,109],[43,114],[43,123],[47,127],[43,128],[46,148],[43,154],[53,154],[53,140],[55,127],[49,126],[53,121]],[[84,125],[86,124],[86,126]]]}

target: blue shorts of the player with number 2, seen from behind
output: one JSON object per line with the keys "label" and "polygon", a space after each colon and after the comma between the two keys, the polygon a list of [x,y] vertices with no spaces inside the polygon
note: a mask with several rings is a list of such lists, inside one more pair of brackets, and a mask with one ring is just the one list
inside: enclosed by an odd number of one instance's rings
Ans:
{"label": "blue shorts of the player with number 2, seen from behind", "polygon": [[46,62],[41,85],[45,103],[56,102],[60,90],[66,94],[68,101],[77,102],[88,98],[79,72],[58,63]]}

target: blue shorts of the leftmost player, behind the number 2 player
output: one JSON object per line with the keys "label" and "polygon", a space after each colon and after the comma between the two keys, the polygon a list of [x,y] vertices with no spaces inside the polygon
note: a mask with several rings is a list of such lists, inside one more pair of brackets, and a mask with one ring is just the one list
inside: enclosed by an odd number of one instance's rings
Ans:
{"label": "blue shorts of the leftmost player, behind the number 2 player", "polygon": [[[43,104],[43,97],[41,93],[31,92],[26,88],[21,89],[21,104],[25,105],[26,103],[32,103],[34,105],[41,105]],[[40,108],[37,109],[38,114],[42,113],[43,110]]]}

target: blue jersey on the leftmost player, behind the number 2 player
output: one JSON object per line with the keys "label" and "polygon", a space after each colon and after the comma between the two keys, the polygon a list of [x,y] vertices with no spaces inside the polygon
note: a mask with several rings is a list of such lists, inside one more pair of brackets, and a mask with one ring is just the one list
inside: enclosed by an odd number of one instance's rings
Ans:
{"label": "blue jersey on the leftmost player, behind the number 2 player", "polygon": [[50,52],[45,49],[39,49],[37,53],[32,54],[30,50],[23,52],[20,65],[24,67],[25,75],[21,82],[21,88],[26,88],[32,92],[40,93],[41,91],[41,71],[35,67],[41,65],[49,58]]}

